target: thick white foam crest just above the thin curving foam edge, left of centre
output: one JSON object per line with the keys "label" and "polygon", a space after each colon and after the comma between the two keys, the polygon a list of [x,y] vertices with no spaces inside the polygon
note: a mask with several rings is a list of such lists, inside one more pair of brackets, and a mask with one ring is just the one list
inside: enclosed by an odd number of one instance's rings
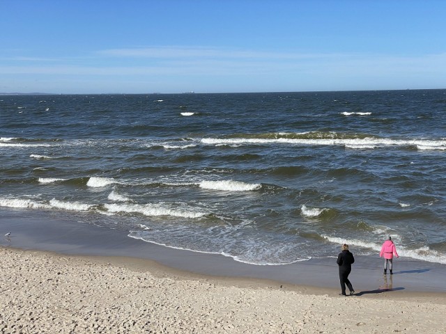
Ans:
{"label": "thick white foam crest just above the thin curving foam edge, left of centre", "polygon": [[199,218],[206,214],[204,212],[171,209],[160,204],[105,204],[104,207],[112,213],[138,213],[144,214],[144,216],[175,216],[184,218]]}

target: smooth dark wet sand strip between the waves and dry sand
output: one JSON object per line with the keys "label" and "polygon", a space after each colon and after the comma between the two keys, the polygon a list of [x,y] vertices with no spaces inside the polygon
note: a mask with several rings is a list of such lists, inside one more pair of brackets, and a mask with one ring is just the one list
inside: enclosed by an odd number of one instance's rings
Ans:
{"label": "smooth dark wet sand strip between the waves and dry sand", "polygon": [[[123,230],[100,228],[72,218],[54,218],[46,212],[2,211],[6,214],[0,218],[1,232],[11,232],[9,239],[3,237],[0,240],[0,246],[3,247],[43,250],[70,256],[121,257],[129,263],[151,260],[165,268],[183,271],[184,275],[266,280],[276,285],[323,289],[332,294],[340,290],[336,257],[275,266],[245,264],[224,255],[151,244],[132,239]],[[356,256],[355,260],[349,278],[356,292],[446,294],[446,285],[443,283],[446,266],[443,264],[400,257],[394,261],[394,275],[383,276],[383,260],[378,255],[376,258]]]}

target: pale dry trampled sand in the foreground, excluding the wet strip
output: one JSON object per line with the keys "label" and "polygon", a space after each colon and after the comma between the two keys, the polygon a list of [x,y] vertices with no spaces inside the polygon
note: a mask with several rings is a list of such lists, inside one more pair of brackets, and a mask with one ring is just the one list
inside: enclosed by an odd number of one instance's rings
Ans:
{"label": "pale dry trampled sand in the foreground, excluding the wet strip", "polygon": [[446,333],[441,293],[343,297],[150,260],[0,254],[1,333]]}

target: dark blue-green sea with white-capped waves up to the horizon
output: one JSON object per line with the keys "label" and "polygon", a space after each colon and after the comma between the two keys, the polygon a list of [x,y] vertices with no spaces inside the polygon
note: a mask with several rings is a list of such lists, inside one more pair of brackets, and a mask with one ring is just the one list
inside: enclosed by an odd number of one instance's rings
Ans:
{"label": "dark blue-green sea with white-capped waves up to the horizon", "polygon": [[253,264],[446,264],[446,90],[0,96],[0,214]]}

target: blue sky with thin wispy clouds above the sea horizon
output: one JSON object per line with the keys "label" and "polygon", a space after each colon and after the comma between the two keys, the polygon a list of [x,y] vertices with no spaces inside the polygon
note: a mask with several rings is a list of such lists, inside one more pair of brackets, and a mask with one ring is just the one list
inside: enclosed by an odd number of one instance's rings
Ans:
{"label": "blue sky with thin wispy clouds above the sea horizon", "polygon": [[446,88],[446,1],[0,0],[0,92]]}

